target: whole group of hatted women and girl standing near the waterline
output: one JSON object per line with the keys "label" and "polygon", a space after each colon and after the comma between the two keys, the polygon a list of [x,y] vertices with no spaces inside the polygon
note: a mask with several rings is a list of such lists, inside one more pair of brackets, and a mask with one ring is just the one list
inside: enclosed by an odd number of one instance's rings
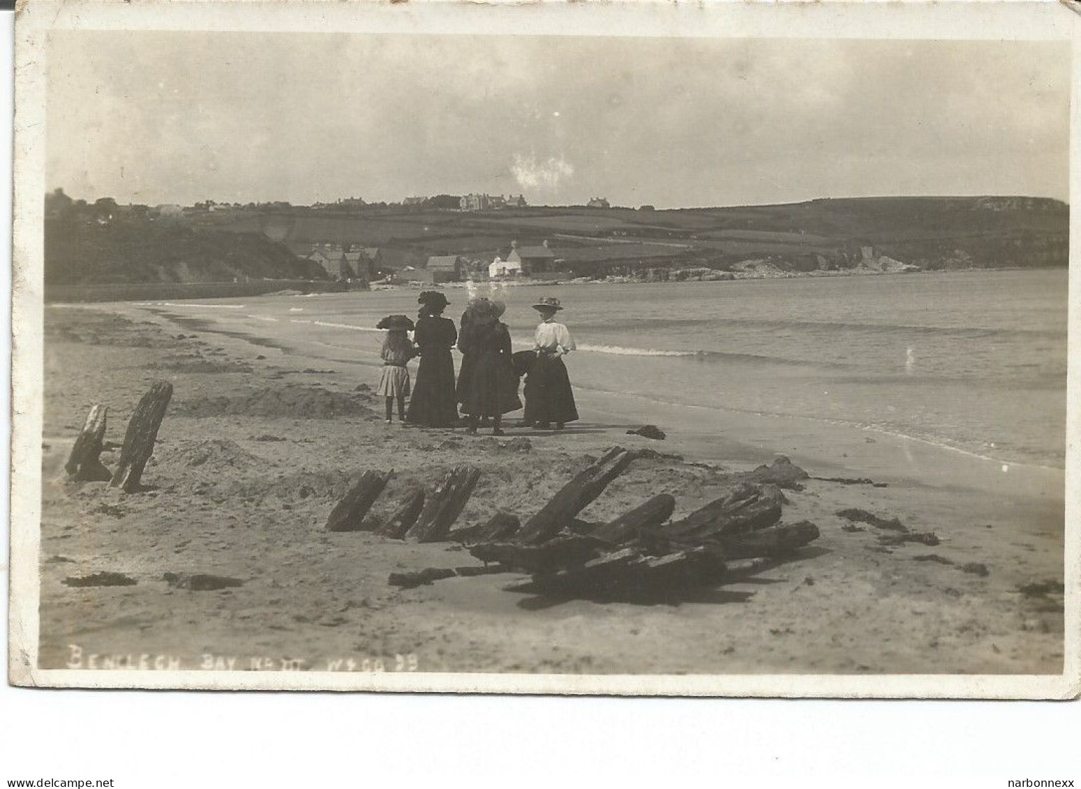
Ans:
{"label": "whole group of hatted women and girl standing near the waterline", "polygon": [[[491,424],[494,436],[503,436],[503,417],[522,409],[519,383],[525,377],[523,424],[542,430],[562,429],[578,418],[574,393],[562,357],[574,350],[574,339],[566,326],[555,320],[562,310],[558,298],[539,299],[533,308],[540,313],[540,324],[532,350],[515,353],[510,331],[499,319],[506,305],[491,298],[470,299],[462,316],[462,331],[443,317],[449,305],[439,291],[425,291],[416,323],[406,316],[388,316],[377,327],[386,329],[383,344],[383,375],[377,392],[386,398],[387,423],[393,404],[403,423],[426,427],[454,427],[461,423],[458,409],[466,417],[467,432],[480,424]],[[408,332],[413,332],[410,340]],[[451,349],[457,345],[462,364],[457,380]],[[410,391],[406,362],[419,356],[416,385]],[[412,393],[409,409],[405,398]]]}

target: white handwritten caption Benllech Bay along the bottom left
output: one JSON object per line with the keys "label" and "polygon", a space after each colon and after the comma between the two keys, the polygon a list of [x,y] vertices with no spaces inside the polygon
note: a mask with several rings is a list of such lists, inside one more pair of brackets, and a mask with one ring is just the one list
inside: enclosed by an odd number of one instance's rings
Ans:
{"label": "white handwritten caption Benllech Bay along the bottom left", "polygon": [[212,655],[203,653],[196,658],[150,653],[86,652],[78,644],[68,644],[69,669],[91,671],[417,671],[421,668],[416,653],[393,654],[387,657],[328,657],[307,660],[298,657],[266,657]]}

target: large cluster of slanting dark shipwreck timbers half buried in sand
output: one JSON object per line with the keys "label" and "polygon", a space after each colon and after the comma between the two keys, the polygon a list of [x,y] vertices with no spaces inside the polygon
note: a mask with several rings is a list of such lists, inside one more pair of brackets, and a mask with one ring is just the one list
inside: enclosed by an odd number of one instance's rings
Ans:
{"label": "large cluster of slanting dark shipwreck timbers half buried in sand", "polygon": [[[745,474],[732,474],[723,495],[679,520],[676,499],[659,494],[606,523],[578,514],[640,456],[613,447],[571,479],[522,522],[510,512],[453,529],[477,486],[480,471],[458,466],[430,494],[410,490],[386,523],[364,516],[386,485],[387,473],[365,472],[331,513],[331,531],[372,531],[417,543],[455,541],[483,566],[427,567],[393,573],[405,588],[440,578],[489,573],[526,573],[510,590],[557,597],[655,600],[669,592],[716,585],[734,563],[778,560],[817,539],[810,522],[782,523],[782,486],[799,490],[805,471],[787,458]],[[751,563],[753,566],[753,563]]]}

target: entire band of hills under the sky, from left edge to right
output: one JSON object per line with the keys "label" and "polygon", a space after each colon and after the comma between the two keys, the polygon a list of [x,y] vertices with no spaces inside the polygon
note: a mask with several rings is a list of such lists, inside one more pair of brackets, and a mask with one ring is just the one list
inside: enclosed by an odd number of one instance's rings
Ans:
{"label": "entire band of hills under the sky, from left edge to right", "polygon": [[[114,204],[115,205],[115,204]],[[378,248],[383,265],[463,255],[482,270],[511,240],[548,240],[571,276],[664,269],[895,270],[1065,266],[1069,206],[1020,197],[822,199],[656,211],[539,206],[186,210],[173,220],[118,213],[45,223],[50,284],[323,279],[315,244]]]}

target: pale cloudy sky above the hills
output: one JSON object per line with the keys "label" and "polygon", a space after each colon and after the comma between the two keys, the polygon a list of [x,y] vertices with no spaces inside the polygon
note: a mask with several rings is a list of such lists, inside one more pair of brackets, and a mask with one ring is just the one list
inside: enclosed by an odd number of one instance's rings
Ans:
{"label": "pale cloudy sky above the hills", "polygon": [[190,204],[1068,196],[1068,44],[55,31],[50,188]]}

